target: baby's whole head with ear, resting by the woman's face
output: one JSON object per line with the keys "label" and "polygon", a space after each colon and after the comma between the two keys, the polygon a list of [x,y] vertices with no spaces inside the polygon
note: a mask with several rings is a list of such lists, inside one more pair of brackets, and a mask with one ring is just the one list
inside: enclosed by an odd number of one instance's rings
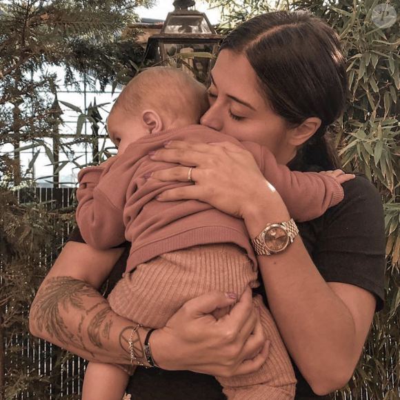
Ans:
{"label": "baby's whole head with ear, resting by the woman's face", "polygon": [[197,124],[208,109],[206,87],[177,68],[153,67],[122,90],[108,117],[119,152],[151,133]]}

